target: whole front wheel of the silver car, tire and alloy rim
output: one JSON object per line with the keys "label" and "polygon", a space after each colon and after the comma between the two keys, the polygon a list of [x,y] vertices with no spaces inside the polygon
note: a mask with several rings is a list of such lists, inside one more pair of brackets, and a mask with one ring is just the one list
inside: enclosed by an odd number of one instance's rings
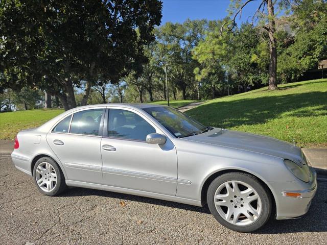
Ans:
{"label": "whole front wheel of the silver car, tire and alloy rim", "polygon": [[207,204],[221,225],[238,232],[260,229],[272,212],[270,191],[258,178],[239,172],[213,180],[208,187]]}

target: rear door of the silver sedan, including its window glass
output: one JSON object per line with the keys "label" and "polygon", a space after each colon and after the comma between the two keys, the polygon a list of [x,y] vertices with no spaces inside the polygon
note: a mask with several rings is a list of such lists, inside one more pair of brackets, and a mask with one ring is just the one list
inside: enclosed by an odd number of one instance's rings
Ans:
{"label": "rear door of the silver sedan, including its window glass", "polygon": [[100,143],[104,112],[103,107],[77,111],[46,136],[68,180],[102,184]]}

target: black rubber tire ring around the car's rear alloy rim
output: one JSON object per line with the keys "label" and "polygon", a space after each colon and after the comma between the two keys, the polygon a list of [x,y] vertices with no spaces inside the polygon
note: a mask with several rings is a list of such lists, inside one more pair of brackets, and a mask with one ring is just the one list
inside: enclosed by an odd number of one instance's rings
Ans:
{"label": "black rubber tire ring around the car's rear alloy rim", "polygon": [[[39,185],[37,184],[37,181],[36,181],[36,168],[38,167],[38,165],[41,163],[41,162],[49,162],[53,168],[55,169],[56,171],[56,174],[57,174],[57,183],[56,183],[56,186],[55,188],[50,191],[50,192],[46,192],[44,190],[42,190]],[[37,162],[35,163],[34,165],[34,168],[33,168],[33,179],[34,179],[34,183],[36,184],[37,188],[39,189],[39,191],[45,195],[51,195],[51,196],[54,196],[54,195],[58,195],[60,194],[62,191],[64,191],[66,189],[66,182],[65,182],[65,177],[60,169],[60,167],[58,166],[58,164],[56,163],[55,160],[53,160],[52,158],[50,157],[42,157],[40,158],[39,160],[37,160]]]}

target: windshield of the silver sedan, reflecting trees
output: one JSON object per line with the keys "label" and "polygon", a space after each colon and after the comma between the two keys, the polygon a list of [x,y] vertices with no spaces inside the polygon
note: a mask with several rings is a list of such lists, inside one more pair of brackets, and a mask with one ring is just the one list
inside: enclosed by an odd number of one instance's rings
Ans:
{"label": "windshield of the silver sedan, reflecting trees", "polygon": [[208,127],[203,126],[200,122],[171,107],[150,107],[143,108],[143,110],[154,117],[177,138],[201,134],[209,130]]}

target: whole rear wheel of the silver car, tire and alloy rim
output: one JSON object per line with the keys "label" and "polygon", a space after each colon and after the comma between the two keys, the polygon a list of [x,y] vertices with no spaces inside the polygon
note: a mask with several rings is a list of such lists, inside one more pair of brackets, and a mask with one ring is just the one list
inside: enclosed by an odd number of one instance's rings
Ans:
{"label": "whole rear wheel of the silver car, tire and alloy rim", "polygon": [[33,179],[39,191],[44,195],[59,195],[67,188],[60,167],[50,157],[41,157],[37,160],[33,168]]}

